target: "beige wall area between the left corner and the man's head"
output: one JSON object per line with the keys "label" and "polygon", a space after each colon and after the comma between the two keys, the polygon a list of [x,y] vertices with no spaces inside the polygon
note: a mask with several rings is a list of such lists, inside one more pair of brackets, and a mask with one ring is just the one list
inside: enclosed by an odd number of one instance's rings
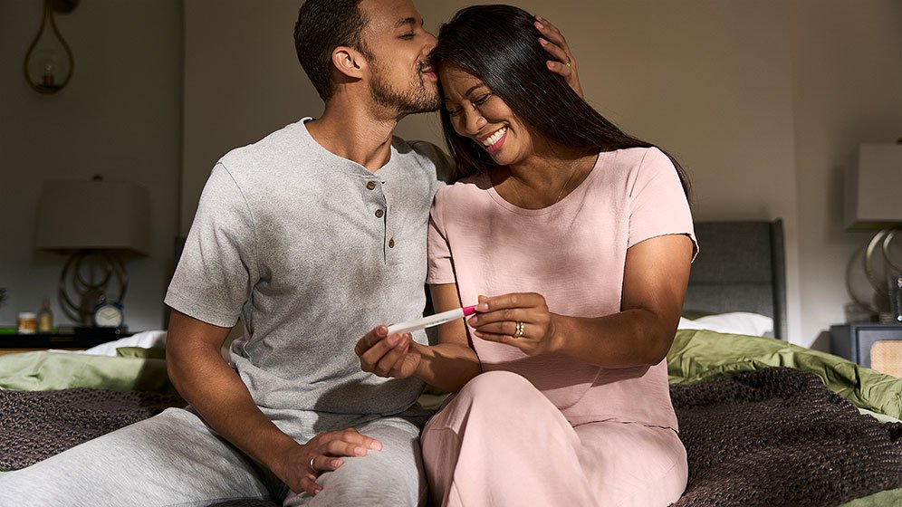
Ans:
{"label": "beige wall area between the left corner and the man's head", "polygon": [[184,143],[181,231],[216,160],[322,101],[294,53],[298,0],[185,2]]}

